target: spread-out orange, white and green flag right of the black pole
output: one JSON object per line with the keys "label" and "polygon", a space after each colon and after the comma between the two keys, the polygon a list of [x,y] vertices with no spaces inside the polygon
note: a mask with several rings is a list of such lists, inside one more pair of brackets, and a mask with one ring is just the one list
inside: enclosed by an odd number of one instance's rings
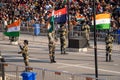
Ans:
{"label": "spread-out orange, white and green flag right of the black pole", "polygon": [[[108,13],[96,15],[96,29],[110,29],[111,16]],[[93,24],[93,21],[92,21]]]}

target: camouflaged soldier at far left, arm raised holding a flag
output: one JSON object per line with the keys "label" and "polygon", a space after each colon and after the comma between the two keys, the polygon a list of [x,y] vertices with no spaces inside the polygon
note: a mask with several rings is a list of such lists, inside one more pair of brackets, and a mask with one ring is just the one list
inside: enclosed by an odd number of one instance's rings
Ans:
{"label": "camouflaged soldier at far left, arm raised holding a flag", "polygon": [[[28,56],[28,40],[24,40],[24,43],[23,43],[23,47],[19,45],[21,51],[18,52],[18,54],[22,54],[23,58],[24,58],[24,63],[25,63],[25,66],[29,66],[29,56]],[[29,71],[28,68],[25,68],[25,71]]]}

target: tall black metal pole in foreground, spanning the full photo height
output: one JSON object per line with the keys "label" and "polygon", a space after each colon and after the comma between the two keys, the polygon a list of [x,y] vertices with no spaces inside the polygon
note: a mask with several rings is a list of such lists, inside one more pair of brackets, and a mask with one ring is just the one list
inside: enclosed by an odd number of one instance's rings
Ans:
{"label": "tall black metal pole in foreground, spanning the full photo height", "polygon": [[95,78],[98,80],[98,64],[97,64],[97,39],[96,39],[96,0],[93,0],[93,18],[94,18],[94,54],[95,54]]}

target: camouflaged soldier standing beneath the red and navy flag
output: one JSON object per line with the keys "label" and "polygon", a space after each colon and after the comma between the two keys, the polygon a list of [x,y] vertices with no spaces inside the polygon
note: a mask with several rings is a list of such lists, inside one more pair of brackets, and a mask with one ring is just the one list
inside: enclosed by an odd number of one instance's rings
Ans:
{"label": "camouflaged soldier standing beneath the red and navy flag", "polygon": [[65,28],[64,25],[60,26],[59,33],[60,33],[61,54],[67,54],[66,53],[66,34],[67,34],[67,29]]}

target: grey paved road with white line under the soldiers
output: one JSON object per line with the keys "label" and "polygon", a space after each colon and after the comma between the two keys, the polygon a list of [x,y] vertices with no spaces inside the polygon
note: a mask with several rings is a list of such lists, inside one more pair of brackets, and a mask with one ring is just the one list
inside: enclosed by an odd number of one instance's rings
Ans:
{"label": "grey paved road with white line under the soldiers", "polygon": [[[1,34],[0,34],[1,35]],[[56,43],[56,61],[57,63],[51,64],[48,55],[48,39],[46,36],[32,36],[21,34],[20,41],[28,39],[30,66],[45,68],[49,70],[59,70],[70,73],[84,74],[95,76],[94,64],[94,49],[88,49],[87,52],[69,52],[68,55],[60,54],[59,41]],[[93,46],[93,42],[91,41]],[[114,62],[105,62],[104,44],[98,42],[98,73],[99,77],[111,78],[108,80],[120,80],[120,54],[113,54]],[[6,62],[19,65],[23,64],[23,58],[17,54],[19,47],[17,45],[10,45],[8,38],[4,40],[0,38],[0,50],[5,57]]]}

